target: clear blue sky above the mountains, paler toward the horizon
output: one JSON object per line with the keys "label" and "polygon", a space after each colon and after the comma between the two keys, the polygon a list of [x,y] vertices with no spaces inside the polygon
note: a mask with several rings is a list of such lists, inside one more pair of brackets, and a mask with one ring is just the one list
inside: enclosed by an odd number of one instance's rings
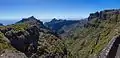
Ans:
{"label": "clear blue sky above the mountains, paler toward the horizon", "polygon": [[119,8],[120,0],[0,0],[0,20],[86,18],[96,11]]}

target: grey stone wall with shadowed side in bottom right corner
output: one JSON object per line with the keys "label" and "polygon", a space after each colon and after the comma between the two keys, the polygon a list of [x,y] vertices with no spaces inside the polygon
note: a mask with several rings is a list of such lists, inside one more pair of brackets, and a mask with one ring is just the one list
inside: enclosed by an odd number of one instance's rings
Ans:
{"label": "grey stone wall with shadowed side in bottom right corner", "polygon": [[114,36],[108,45],[101,51],[98,58],[115,58],[119,44],[120,35]]}

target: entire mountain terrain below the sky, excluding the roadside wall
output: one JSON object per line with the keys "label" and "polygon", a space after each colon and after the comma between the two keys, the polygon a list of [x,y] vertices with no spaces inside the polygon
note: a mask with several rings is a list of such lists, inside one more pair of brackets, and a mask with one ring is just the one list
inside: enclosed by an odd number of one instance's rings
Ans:
{"label": "entire mountain terrain below the sky, excluding the roadside wall", "polygon": [[115,58],[119,41],[113,41],[115,46],[110,45],[109,51],[104,49],[115,36],[120,36],[120,9],[45,23],[31,16],[7,26],[0,24],[0,58]]}

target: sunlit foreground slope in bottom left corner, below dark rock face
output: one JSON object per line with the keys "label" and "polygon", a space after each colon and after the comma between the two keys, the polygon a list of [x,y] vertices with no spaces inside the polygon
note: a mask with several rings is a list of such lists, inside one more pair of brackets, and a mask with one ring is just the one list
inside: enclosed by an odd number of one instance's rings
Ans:
{"label": "sunlit foreground slope in bottom left corner, below dark rock face", "polygon": [[9,58],[9,57],[12,57],[12,58],[13,57],[27,58],[24,53],[16,50],[10,44],[10,41],[0,31],[0,58]]}

